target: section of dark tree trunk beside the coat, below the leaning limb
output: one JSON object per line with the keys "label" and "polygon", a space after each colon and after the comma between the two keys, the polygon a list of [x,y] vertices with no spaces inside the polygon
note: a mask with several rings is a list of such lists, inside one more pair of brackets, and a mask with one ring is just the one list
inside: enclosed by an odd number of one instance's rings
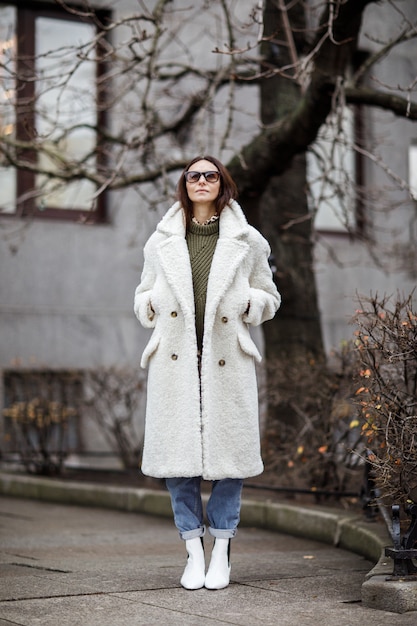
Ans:
{"label": "section of dark tree trunk beside the coat, below the leaning limb", "polygon": [[260,229],[271,245],[282,295],[279,313],[264,325],[265,356],[271,363],[324,358],[305,175],[300,155],[288,172],[271,179],[260,201]]}

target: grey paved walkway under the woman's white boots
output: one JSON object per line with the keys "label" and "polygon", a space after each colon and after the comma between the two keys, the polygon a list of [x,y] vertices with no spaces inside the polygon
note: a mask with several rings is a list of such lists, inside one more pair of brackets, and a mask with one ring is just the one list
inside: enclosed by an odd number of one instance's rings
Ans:
{"label": "grey paved walkway under the woman's white boots", "polygon": [[170,520],[0,497],[0,530],[1,626],[417,624],[362,606],[372,564],[315,541],[242,528],[230,586],[186,591]]}

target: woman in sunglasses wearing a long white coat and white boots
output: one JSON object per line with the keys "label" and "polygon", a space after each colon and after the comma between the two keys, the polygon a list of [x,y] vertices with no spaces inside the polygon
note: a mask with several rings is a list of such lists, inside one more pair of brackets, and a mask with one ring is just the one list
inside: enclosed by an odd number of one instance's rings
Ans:
{"label": "woman in sunglasses wearing a long white coat and white boots", "polygon": [[[236,185],[214,157],[193,159],[178,202],[144,248],[135,313],[153,328],[142,471],[164,478],[188,553],[181,584],[222,589],[243,479],[263,471],[255,361],[248,326],[271,319],[280,295],[269,245],[235,201]],[[201,481],[212,482],[206,515],[214,537],[205,574]]]}

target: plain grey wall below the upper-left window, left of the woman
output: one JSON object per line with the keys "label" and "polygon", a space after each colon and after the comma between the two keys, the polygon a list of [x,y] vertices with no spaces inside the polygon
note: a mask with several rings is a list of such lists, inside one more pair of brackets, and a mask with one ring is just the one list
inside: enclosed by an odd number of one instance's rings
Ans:
{"label": "plain grey wall below the upper-left window, left of the woman", "polygon": [[33,221],[16,253],[3,242],[3,367],[137,364],[133,292],[156,216],[129,195],[111,194],[108,224]]}

